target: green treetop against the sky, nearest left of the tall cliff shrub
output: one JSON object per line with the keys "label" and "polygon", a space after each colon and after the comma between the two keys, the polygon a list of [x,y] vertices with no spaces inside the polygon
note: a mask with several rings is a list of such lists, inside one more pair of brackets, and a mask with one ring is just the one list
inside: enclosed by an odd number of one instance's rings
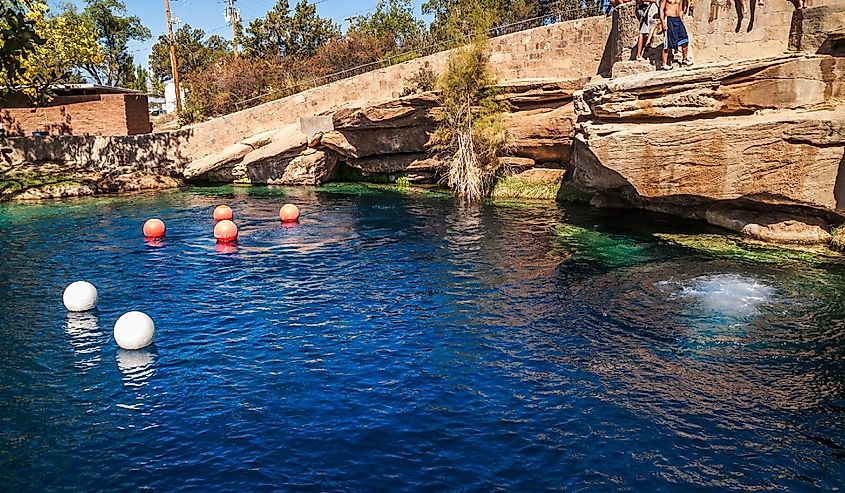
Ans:
{"label": "green treetop against the sky, nearest left of the tall cliff shrub", "polygon": [[422,34],[424,24],[414,17],[410,0],[379,0],[372,14],[355,19],[350,31],[390,39],[394,49],[405,49]]}

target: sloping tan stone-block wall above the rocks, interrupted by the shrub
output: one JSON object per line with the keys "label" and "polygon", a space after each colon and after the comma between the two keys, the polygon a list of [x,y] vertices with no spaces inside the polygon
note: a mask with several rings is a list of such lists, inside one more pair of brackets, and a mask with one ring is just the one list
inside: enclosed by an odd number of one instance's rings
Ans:
{"label": "sloping tan stone-block wall above the rocks, interrupted by the shrub", "polygon": [[[609,17],[561,22],[490,41],[490,62],[500,83],[525,80],[589,78],[609,70]],[[365,105],[394,99],[423,66],[440,72],[448,53],[394,65],[357,77],[320,86],[284,99],[192,127],[185,154],[200,158],[221,152],[241,140],[281,128],[299,117],[328,113],[342,106]]]}

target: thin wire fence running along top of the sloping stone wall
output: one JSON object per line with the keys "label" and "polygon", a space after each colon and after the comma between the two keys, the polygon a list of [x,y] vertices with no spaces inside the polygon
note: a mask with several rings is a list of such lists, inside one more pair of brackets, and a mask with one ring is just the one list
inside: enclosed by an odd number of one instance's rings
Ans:
{"label": "thin wire fence running along top of the sloping stone wall", "polygon": [[[569,9],[558,10],[555,12],[551,12],[545,15],[541,15],[538,17],[532,17],[530,19],[524,19],[518,22],[513,22],[510,24],[505,24],[501,26],[494,27],[488,33],[491,38],[496,38],[500,36],[505,36],[507,34],[518,33],[521,31],[526,31],[528,29],[534,29],[537,27],[548,26],[552,24],[557,24],[559,22],[570,21],[575,19],[582,19],[585,17],[593,17],[597,15],[605,14],[605,8],[601,5],[592,5],[592,6],[581,6]],[[352,68],[348,68],[345,70],[341,70],[338,72],[334,72],[328,75],[322,75],[319,77],[314,77],[312,79],[308,79],[303,82],[299,82],[296,84],[291,84],[286,87],[275,89],[273,91],[269,91],[264,94],[260,94],[255,97],[251,97],[248,99],[244,99],[241,101],[237,101],[234,103],[234,106],[237,111],[241,111],[252,106],[257,106],[261,103],[271,101],[273,99],[277,99],[280,96],[287,96],[291,94],[296,94],[298,92],[302,92],[307,89],[313,89],[315,87],[323,86],[326,84],[330,84],[332,82],[337,82],[339,80],[348,79],[350,77],[355,77],[357,75],[361,75],[367,72],[372,72],[374,70],[379,70],[382,68],[390,67],[392,65],[396,65],[398,63],[403,63],[411,60],[415,60],[417,58],[422,58],[428,55],[433,55],[435,53],[439,53],[441,51],[446,51],[451,48],[455,48],[460,44],[459,41],[455,39],[451,40],[443,40],[437,42],[428,42],[426,43],[423,41],[420,43],[419,46],[415,46],[413,49],[406,50],[394,55],[391,55],[386,58],[382,58],[380,60],[376,60],[374,62],[365,63],[362,65],[358,65]]]}

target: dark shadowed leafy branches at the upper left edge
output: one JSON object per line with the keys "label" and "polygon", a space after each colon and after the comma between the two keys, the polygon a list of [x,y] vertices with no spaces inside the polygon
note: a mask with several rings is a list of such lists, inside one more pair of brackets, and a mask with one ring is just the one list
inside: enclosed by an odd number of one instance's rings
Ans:
{"label": "dark shadowed leafy branches at the upper left edge", "polygon": [[35,21],[26,15],[31,7],[30,1],[0,1],[0,93],[12,89],[24,70],[23,61],[44,44],[36,33]]}

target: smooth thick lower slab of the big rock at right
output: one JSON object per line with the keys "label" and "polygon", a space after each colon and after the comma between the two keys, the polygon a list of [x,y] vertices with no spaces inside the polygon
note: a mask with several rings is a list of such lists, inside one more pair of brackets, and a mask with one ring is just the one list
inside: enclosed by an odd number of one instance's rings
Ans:
{"label": "smooth thick lower slab of the big rock at right", "polygon": [[845,106],[580,129],[573,179],[588,190],[845,210]]}

